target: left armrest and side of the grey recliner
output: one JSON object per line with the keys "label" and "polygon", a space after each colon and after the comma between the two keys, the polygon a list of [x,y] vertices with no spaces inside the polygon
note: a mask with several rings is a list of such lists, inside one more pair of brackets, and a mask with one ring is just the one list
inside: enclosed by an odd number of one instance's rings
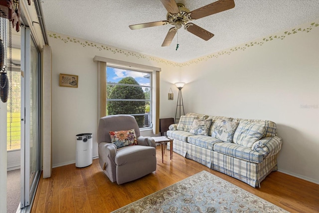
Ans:
{"label": "left armrest and side of the grey recliner", "polygon": [[99,163],[102,170],[109,177],[111,182],[116,181],[116,165],[115,156],[117,154],[117,148],[115,144],[101,142],[99,144]]}

